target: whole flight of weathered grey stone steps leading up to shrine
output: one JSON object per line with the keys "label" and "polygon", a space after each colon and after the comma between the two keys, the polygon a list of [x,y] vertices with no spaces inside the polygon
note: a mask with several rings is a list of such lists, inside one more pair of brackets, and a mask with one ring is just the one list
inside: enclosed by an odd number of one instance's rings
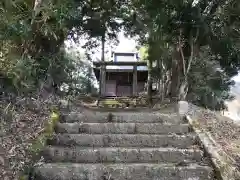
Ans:
{"label": "whole flight of weathered grey stone steps leading up to shrine", "polygon": [[189,125],[176,114],[70,114],[56,127],[34,180],[213,180]]}

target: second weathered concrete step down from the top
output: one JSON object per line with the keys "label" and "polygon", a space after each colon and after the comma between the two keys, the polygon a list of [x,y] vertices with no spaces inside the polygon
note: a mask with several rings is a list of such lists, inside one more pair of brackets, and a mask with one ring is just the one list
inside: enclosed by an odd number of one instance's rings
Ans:
{"label": "second weathered concrete step down from the top", "polygon": [[188,124],[162,123],[58,123],[55,131],[70,134],[185,134],[190,128]]}

